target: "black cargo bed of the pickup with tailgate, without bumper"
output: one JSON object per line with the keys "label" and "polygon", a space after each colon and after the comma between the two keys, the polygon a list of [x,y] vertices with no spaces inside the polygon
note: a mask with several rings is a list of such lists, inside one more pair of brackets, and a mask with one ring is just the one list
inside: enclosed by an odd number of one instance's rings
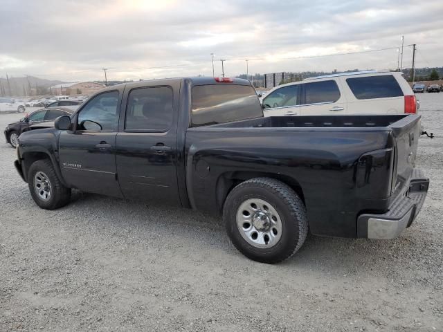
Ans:
{"label": "black cargo bed of the pickup with tailgate, without bumper", "polygon": [[364,237],[357,234],[359,214],[386,213],[408,190],[419,131],[416,114],[280,116],[191,127],[190,202],[217,210],[223,191],[208,192],[220,183],[229,188],[247,174],[278,174],[301,188],[313,234]]}

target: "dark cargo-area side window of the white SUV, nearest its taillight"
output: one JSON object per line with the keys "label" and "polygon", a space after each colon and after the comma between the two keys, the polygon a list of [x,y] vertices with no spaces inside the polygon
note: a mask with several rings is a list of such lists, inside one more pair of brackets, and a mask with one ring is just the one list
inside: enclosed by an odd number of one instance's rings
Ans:
{"label": "dark cargo-area side window of the white SUV, nearest its taillight", "polygon": [[346,79],[357,99],[400,97],[403,91],[392,75],[353,77]]}

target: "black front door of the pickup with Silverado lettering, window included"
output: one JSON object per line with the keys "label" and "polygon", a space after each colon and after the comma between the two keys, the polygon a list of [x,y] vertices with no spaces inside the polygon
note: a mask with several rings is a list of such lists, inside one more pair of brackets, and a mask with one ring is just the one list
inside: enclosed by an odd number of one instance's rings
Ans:
{"label": "black front door of the pickup with Silverado lettering, window included", "polygon": [[121,92],[106,91],[96,95],[74,117],[74,130],[60,134],[60,168],[71,187],[122,196],[116,176]]}

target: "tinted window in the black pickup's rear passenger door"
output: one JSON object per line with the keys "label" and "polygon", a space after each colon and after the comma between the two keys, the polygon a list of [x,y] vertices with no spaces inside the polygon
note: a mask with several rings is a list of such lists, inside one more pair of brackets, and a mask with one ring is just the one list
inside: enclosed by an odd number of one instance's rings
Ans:
{"label": "tinted window in the black pickup's rear passenger door", "polygon": [[168,131],[172,124],[172,89],[153,86],[133,89],[126,108],[126,130]]}

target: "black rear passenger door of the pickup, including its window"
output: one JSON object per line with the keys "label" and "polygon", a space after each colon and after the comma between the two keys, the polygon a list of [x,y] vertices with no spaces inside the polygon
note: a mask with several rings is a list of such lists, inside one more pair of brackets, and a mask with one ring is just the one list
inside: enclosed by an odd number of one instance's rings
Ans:
{"label": "black rear passenger door of the pickup, including its window", "polygon": [[181,204],[177,185],[179,83],[174,84],[141,83],[125,91],[116,158],[118,181],[127,199]]}

